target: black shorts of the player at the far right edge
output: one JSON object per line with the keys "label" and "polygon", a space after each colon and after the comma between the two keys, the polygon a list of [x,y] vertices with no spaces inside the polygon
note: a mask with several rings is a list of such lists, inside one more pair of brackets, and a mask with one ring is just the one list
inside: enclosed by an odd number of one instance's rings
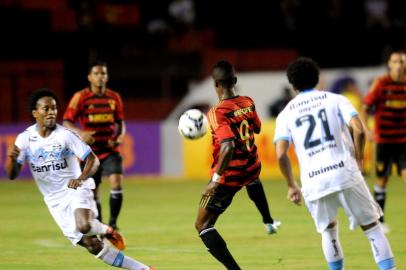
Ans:
{"label": "black shorts of the player at the far right edge", "polygon": [[376,144],[376,175],[378,177],[390,176],[393,163],[396,164],[398,174],[406,169],[406,144]]}

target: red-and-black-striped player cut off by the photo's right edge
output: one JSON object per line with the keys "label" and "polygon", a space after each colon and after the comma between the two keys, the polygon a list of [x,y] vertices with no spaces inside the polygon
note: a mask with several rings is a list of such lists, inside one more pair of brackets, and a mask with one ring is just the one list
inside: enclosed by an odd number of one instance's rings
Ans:
{"label": "red-and-black-striped player cut off by the photo's right edge", "polygon": [[[388,74],[372,83],[361,116],[368,129],[369,138],[376,142],[375,200],[385,207],[386,185],[396,163],[398,173],[406,183],[406,53],[394,51],[388,59]],[[375,114],[375,134],[368,128],[368,112]],[[389,231],[382,216],[380,221]]]}

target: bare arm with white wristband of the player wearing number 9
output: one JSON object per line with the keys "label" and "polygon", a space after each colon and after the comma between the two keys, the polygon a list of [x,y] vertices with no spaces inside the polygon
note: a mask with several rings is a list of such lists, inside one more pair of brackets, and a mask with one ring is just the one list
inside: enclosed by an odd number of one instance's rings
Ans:
{"label": "bare arm with white wristband of the player wearing number 9", "polygon": [[228,163],[233,157],[234,149],[235,149],[234,141],[227,141],[221,143],[220,156],[218,160],[219,165],[217,168],[217,172],[213,175],[212,181],[210,181],[210,183],[203,190],[203,195],[205,196],[213,195],[214,191],[219,185],[218,180],[220,179],[224,170],[227,168]]}

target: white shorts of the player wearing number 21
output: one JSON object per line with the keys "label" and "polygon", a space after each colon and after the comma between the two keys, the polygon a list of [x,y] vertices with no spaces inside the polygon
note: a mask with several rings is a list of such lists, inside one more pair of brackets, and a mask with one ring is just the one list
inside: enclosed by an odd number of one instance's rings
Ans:
{"label": "white shorts of the player wearing number 21", "polygon": [[383,215],[381,207],[372,198],[365,181],[318,200],[308,201],[306,206],[319,233],[327,229],[327,226],[336,218],[339,207],[344,208],[351,230],[354,230],[357,225],[364,226],[376,222]]}

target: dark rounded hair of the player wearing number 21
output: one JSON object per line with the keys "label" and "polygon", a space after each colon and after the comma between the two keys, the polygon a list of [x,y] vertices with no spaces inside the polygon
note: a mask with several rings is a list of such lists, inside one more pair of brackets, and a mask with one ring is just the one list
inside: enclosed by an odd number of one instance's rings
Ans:
{"label": "dark rounded hair of the player wearing number 21", "polygon": [[316,87],[319,82],[319,67],[307,57],[299,57],[291,62],[286,71],[288,81],[299,91]]}

